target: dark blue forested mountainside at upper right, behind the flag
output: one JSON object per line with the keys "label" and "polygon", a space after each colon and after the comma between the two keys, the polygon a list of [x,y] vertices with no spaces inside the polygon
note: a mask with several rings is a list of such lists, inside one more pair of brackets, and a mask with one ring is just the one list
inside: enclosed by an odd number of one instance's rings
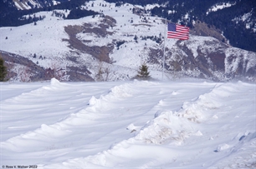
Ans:
{"label": "dark blue forested mountainside at upper right, behind the flag", "polygon": [[[106,0],[116,2],[115,0]],[[146,6],[156,1],[123,0]],[[194,28],[195,22],[207,24],[206,29],[217,28],[233,47],[255,52],[255,1],[251,0],[158,0],[151,9],[152,16],[163,17]],[[246,19],[245,19],[246,18]],[[196,28],[196,27],[195,27]],[[204,32],[204,30],[202,30]],[[204,32],[205,33],[205,32]],[[203,33],[203,34],[204,34]],[[215,37],[206,33],[207,36]],[[197,34],[200,35],[200,32]],[[223,37],[220,39],[223,41]]]}

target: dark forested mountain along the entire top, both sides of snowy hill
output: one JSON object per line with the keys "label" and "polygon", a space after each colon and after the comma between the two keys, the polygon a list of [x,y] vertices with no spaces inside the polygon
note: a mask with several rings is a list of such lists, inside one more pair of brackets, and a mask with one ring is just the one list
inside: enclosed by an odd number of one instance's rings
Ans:
{"label": "dark forested mountain along the entire top, both sides of snowy hill", "polygon": [[[221,41],[231,44],[233,47],[243,48],[255,52],[255,7],[256,3],[251,0],[214,0],[202,3],[194,0],[158,0],[139,1],[139,0],[106,0],[113,2],[115,6],[122,7],[126,2],[140,4],[141,11],[151,12],[151,16],[167,18],[172,22],[186,24],[191,28],[195,27],[195,22],[202,22],[207,25],[205,30],[213,30],[213,33],[204,32],[201,29],[197,35],[205,34],[210,37],[219,37]],[[15,4],[16,7],[15,7]],[[87,0],[13,0],[1,2],[1,27],[20,26],[32,22],[31,18],[19,20],[24,14],[33,15],[33,12],[50,11],[54,9],[72,10],[72,16],[79,18],[82,13],[79,11],[81,6]],[[149,5],[150,4],[150,5]],[[29,10],[16,10],[28,9]],[[23,14],[22,14],[23,13]],[[74,14],[74,15],[73,15]],[[216,36],[216,31],[218,36]],[[222,36],[220,36],[222,35]],[[227,40],[227,41],[226,41]]]}

